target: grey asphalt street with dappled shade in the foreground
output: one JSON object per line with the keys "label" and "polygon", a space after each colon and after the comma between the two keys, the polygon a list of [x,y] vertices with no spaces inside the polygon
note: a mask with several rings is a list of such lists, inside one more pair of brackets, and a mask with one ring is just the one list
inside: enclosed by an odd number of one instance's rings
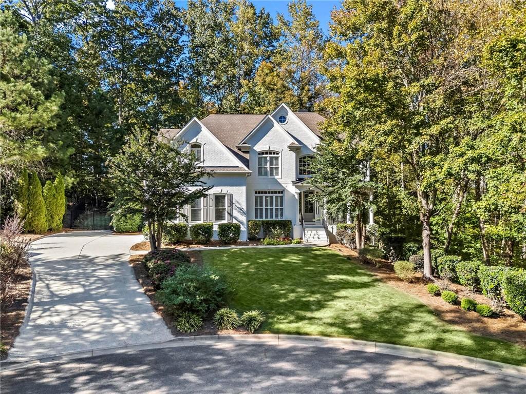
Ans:
{"label": "grey asphalt street with dappled shade in the foreground", "polygon": [[524,394],[526,380],[338,347],[238,343],[150,349],[2,372],[2,394],[30,392]]}

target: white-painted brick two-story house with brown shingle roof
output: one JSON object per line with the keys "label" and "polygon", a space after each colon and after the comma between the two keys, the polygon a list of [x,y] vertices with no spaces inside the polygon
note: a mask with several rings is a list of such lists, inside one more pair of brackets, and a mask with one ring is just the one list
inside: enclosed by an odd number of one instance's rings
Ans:
{"label": "white-painted brick two-story house with brown shingle roof", "polygon": [[163,129],[169,139],[184,141],[214,176],[206,198],[185,207],[189,224],[237,222],[247,240],[249,220],[292,221],[291,236],[328,242],[321,210],[311,196],[309,161],[320,142],[315,112],[292,112],[281,104],[268,115],[216,114],[191,119],[183,128]]}

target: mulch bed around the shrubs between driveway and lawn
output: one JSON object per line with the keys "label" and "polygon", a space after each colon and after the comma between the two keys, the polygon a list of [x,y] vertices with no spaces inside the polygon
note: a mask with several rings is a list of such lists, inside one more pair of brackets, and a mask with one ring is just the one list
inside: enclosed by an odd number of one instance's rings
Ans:
{"label": "mulch bed around the shrubs between driveway and lawn", "polygon": [[[135,249],[135,250],[141,250],[141,249]],[[149,250],[149,244],[148,249]],[[197,265],[203,265],[203,259],[201,258],[201,253],[189,251],[184,252],[188,254],[190,257],[190,262],[192,264]],[[131,255],[129,258],[129,264],[131,267],[133,267],[133,270],[135,272],[135,277],[137,278],[137,281],[143,286],[143,290],[145,294],[150,298],[150,303],[154,307],[155,312],[159,314],[161,317],[163,317],[166,325],[171,331],[171,334],[176,337],[188,337],[188,336],[194,336],[194,335],[232,335],[232,334],[249,334],[248,331],[245,328],[237,328],[235,330],[224,330],[219,331],[213,324],[211,319],[205,320],[203,323],[203,328],[201,328],[198,331],[194,331],[193,333],[181,333],[176,328],[176,319],[171,314],[167,313],[164,306],[162,304],[159,304],[155,299],[155,288],[151,284],[151,280],[148,277],[148,271],[146,268],[146,264],[143,262],[144,255]]]}

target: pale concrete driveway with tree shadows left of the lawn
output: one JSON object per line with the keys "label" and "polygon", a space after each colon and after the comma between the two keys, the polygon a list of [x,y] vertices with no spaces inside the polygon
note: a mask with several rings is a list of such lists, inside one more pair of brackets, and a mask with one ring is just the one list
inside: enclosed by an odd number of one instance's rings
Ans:
{"label": "pale concrete driveway with tree shadows left of the lawn", "polygon": [[32,243],[34,302],[8,360],[171,339],[127,262],[140,241],[79,231]]}

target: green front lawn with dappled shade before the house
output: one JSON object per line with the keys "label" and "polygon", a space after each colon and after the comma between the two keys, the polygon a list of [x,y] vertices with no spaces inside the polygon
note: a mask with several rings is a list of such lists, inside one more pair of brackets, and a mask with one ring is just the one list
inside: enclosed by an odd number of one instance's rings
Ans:
{"label": "green front lawn with dappled shade before the house", "polygon": [[235,288],[231,307],[267,315],[260,331],[350,337],[526,366],[526,348],[443,322],[417,298],[327,248],[201,253]]}

